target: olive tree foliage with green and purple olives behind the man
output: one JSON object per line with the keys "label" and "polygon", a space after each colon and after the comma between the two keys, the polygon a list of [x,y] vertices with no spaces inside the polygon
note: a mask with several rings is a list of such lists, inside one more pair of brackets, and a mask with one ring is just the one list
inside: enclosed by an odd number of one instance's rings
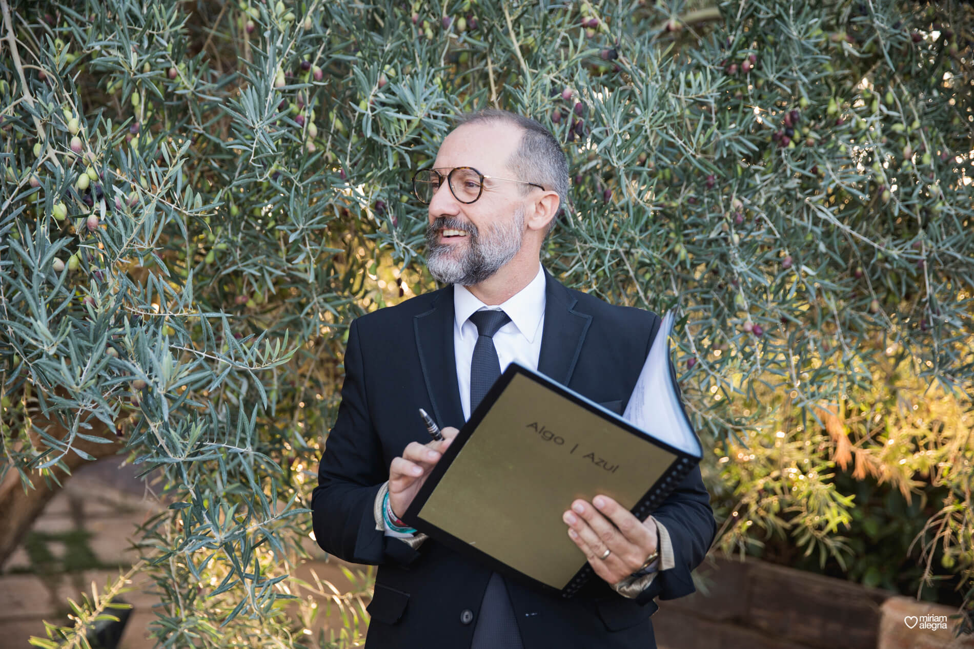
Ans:
{"label": "olive tree foliage with green and purple olives behind the man", "polygon": [[682,309],[721,548],[971,628],[968,5],[0,5],[2,472],[145,468],[160,642],[329,641],[286,575],[346,326],[434,288],[408,178],[494,105],[569,155],[547,267]]}

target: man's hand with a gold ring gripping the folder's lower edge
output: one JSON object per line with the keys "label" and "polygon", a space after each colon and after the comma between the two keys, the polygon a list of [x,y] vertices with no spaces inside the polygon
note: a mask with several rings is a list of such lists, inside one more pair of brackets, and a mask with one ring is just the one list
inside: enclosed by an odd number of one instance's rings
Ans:
{"label": "man's hand with a gold ring gripping the folder's lower edge", "polygon": [[[609,496],[597,495],[592,502],[576,500],[562,520],[595,573],[609,584],[618,584],[656,552],[653,518],[643,523]],[[602,559],[606,550],[609,556]]]}

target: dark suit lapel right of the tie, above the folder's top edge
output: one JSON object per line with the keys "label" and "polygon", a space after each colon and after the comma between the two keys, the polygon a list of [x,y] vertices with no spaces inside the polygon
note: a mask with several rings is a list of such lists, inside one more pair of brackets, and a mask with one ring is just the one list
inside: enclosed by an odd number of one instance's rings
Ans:
{"label": "dark suit lapel right of the tie, above the folder's top edge", "polygon": [[544,269],[544,330],[538,371],[568,385],[592,316],[573,310],[578,302]]}

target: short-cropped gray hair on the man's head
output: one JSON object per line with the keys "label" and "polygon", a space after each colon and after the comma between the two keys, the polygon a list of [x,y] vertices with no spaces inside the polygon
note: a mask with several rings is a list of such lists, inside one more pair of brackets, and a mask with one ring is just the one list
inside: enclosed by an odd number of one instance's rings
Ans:
{"label": "short-cropped gray hair on the man's head", "polygon": [[[507,161],[510,168],[519,176],[517,180],[538,183],[545,190],[554,190],[558,193],[558,210],[548,223],[544,234],[551,232],[558,219],[558,212],[564,212],[568,207],[568,160],[561,149],[561,144],[551,131],[539,122],[517,113],[493,108],[460,115],[454,129],[467,124],[492,122],[513,124],[520,126],[524,131],[520,145]],[[531,189],[531,185],[521,185],[521,195],[526,196]]]}

